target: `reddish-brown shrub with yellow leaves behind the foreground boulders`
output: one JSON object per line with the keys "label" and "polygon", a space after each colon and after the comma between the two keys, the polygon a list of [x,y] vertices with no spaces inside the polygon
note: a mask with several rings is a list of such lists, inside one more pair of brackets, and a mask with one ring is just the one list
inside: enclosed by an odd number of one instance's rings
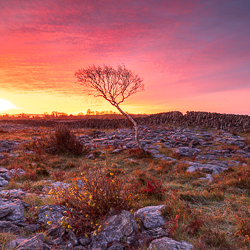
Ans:
{"label": "reddish-brown shrub with yellow leaves behind the foreground boulders", "polygon": [[83,174],[78,185],[54,194],[68,208],[62,226],[72,228],[76,234],[89,235],[97,226],[100,230],[101,221],[108,214],[137,207],[135,191],[101,168]]}

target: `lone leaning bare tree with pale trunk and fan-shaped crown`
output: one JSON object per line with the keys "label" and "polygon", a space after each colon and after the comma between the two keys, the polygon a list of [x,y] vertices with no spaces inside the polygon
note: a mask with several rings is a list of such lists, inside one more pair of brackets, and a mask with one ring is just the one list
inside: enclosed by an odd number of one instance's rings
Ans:
{"label": "lone leaning bare tree with pale trunk and fan-shaped crown", "polygon": [[115,106],[124,116],[126,116],[135,127],[135,141],[139,148],[144,151],[138,139],[138,126],[135,120],[121,110],[119,104],[126,98],[140,91],[144,91],[143,79],[128,70],[124,65],[119,65],[117,69],[111,66],[90,66],[76,71],[75,76],[78,81],[87,89],[94,90],[91,94],[101,96]]}

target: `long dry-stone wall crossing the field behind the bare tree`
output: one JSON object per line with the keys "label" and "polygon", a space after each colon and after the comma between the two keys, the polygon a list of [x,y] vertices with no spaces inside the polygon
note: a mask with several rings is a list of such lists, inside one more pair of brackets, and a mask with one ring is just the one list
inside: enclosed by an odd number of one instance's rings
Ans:
{"label": "long dry-stone wall crossing the field behind the bare tree", "polygon": [[[182,127],[204,127],[224,129],[227,131],[250,132],[250,116],[219,114],[210,112],[187,112],[183,115],[179,111],[159,113],[153,115],[132,115],[138,125],[174,125]],[[141,116],[141,117],[140,117]],[[10,120],[9,120],[10,121]],[[12,120],[15,123],[29,124],[31,126],[56,126],[67,124],[74,128],[117,129],[131,127],[129,120],[125,119],[20,119]]]}

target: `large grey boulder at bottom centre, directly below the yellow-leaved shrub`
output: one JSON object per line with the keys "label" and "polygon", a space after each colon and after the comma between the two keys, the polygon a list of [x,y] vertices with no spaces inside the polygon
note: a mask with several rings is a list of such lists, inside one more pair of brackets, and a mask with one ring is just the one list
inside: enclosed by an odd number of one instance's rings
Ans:
{"label": "large grey boulder at bottom centre, directly below the yellow-leaved shrub", "polygon": [[92,236],[92,248],[107,249],[108,243],[112,242],[132,245],[136,241],[137,230],[133,215],[123,210],[104,221],[101,232]]}

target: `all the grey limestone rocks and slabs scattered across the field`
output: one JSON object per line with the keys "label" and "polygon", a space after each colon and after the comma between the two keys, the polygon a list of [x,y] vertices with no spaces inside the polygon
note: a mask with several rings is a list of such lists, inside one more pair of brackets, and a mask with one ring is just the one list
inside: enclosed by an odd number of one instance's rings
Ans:
{"label": "all the grey limestone rocks and slabs scattered across the field", "polygon": [[[1,129],[10,132],[18,129],[28,128],[27,125],[14,125],[2,123]],[[53,130],[53,129],[52,129]],[[166,127],[164,125],[149,127],[139,126],[142,145],[150,151],[155,158],[164,161],[185,162],[189,165],[186,171],[200,171],[206,174],[204,179],[213,181],[213,175],[228,169],[236,168],[242,161],[232,160],[232,157],[250,159],[250,144],[239,135],[232,134],[224,130],[205,130],[200,128],[184,129],[182,127]],[[114,132],[94,131],[90,135],[79,135],[78,139],[85,145],[93,149],[106,145],[115,146],[115,154],[122,153],[123,150],[136,148],[134,131],[132,128],[117,129]],[[40,140],[34,137],[33,140]],[[28,140],[0,140],[0,158],[19,157],[17,149]],[[216,145],[224,145],[224,148],[215,149]],[[169,157],[161,154],[161,147],[174,150],[174,156]],[[33,154],[27,151],[27,154]],[[89,154],[86,157],[95,159],[98,154]],[[175,157],[176,156],[176,157]],[[101,157],[101,156],[100,156]],[[181,160],[186,157],[185,161]],[[187,160],[187,158],[189,160]],[[131,159],[132,160],[132,159]],[[244,163],[243,163],[244,164]],[[19,171],[19,172],[18,172]],[[27,223],[24,211],[29,204],[22,201],[26,195],[23,190],[5,190],[4,187],[11,180],[13,175],[23,174],[22,170],[7,170],[0,167],[0,231],[11,231],[17,235],[7,249],[126,249],[125,247],[137,246],[142,248],[149,243],[150,250],[153,249],[192,249],[192,245],[187,242],[176,242],[170,239],[168,231],[164,229],[166,221],[161,215],[163,205],[144,207],[131,214],[129,211],[122,211],[119,215],[110,216],[104,223],[104,228],[97,235],[92,237],[76,237],[68,229],[57,225],[63,216],[65,207],[59,205],[45,205],[40,207],[38,220],[36,223]],[[67,183],[51,183],[54,188],[67,187]],[[44,189],[46,192],[46,189]],[[141,221],[141,224],[137,222]],[[52,240],[45,242],[44,234],[36,233],[41,230],[42,225],[51,221],[47,225],[49,229],[46,234]],[[34,235],[28,239],[19,236],[20,230],[33,232]],[[56,248],[54,248],[56,249]],[[58,249],[58,248],[57,248]],[[127,248],[128,249],[128,248]]]}

